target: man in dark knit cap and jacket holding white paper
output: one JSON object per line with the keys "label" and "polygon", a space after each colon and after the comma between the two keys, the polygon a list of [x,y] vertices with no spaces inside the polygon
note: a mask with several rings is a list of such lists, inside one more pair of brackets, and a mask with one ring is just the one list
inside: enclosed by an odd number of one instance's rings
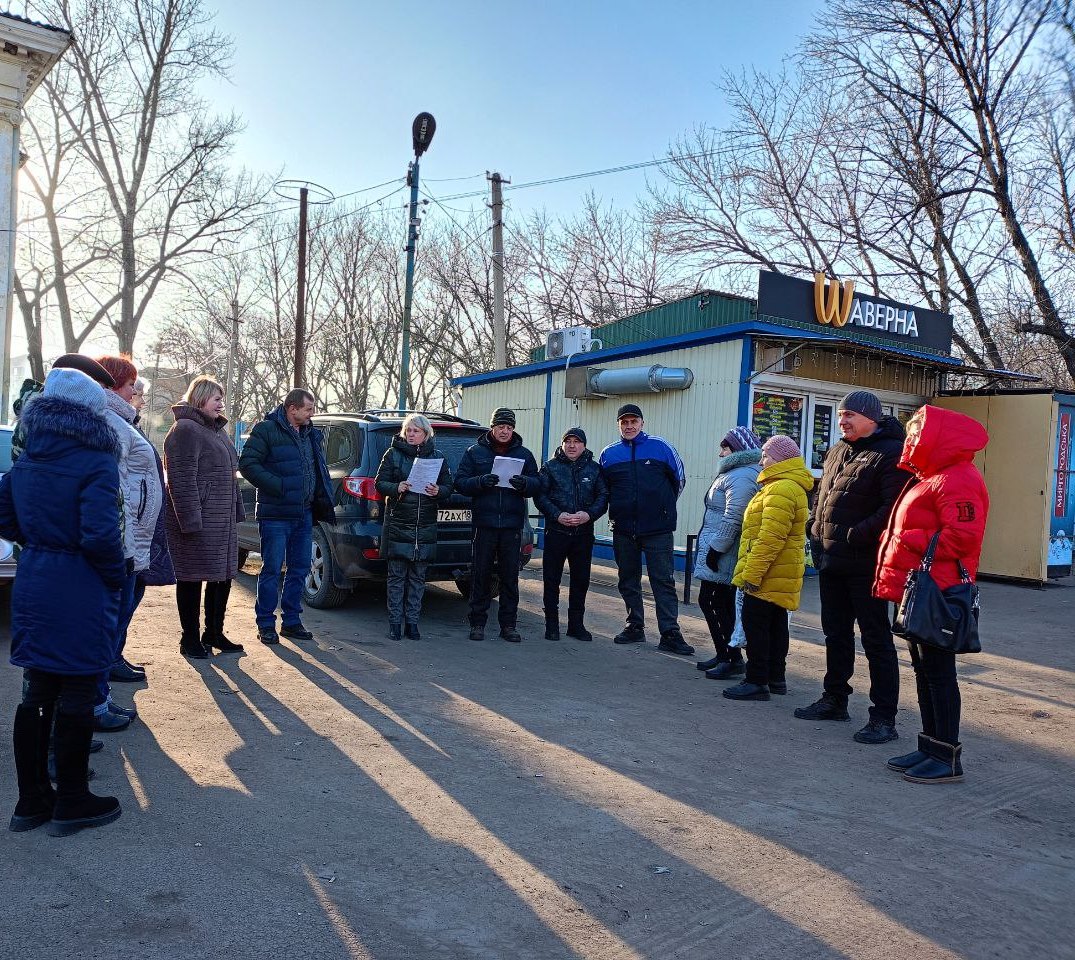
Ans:
{"label": "man in dark knit cap and jacket holding white paper", "polygon": [[[522,469],[500,486],[493,473],[497,457],[522,461]],[[500,574],[500,635],[508,643],[520,643],[516,629],[519,612],[519,551],[527,518],[527,498],[541,490],[538,461],[522,446],[515,432],[515,411],[498,407],[489,422],[489,432],[468,447],[459,461],[456,492],[470,497],[474,524],[474,555],[471,561],[471,640],[485,640],[485,624],[492,600],[490,581],[496,565]]]}

